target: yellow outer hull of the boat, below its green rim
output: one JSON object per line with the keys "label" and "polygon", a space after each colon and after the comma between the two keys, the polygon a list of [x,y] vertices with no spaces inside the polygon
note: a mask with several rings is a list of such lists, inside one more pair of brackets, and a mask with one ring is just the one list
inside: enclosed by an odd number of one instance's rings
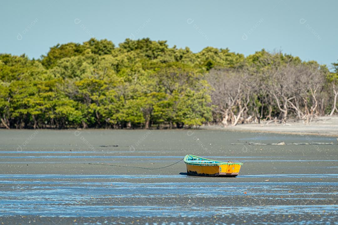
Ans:
{"label": "yellow outer hull of the boat, below its green rim", "polygon": [[190,176],[236,177],[241,165],[190,165],[186,164]]}

